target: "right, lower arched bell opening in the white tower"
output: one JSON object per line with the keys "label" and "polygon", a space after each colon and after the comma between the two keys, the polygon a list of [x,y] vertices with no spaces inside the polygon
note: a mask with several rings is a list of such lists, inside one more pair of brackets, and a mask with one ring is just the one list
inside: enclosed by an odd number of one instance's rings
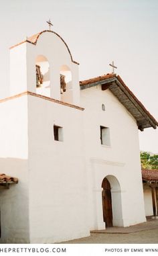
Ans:
{"label": "right, lower arched bell opening in the white tower", "polygon": [[72,72],[67,65],[60,67],[61,101],[72,103]]}

